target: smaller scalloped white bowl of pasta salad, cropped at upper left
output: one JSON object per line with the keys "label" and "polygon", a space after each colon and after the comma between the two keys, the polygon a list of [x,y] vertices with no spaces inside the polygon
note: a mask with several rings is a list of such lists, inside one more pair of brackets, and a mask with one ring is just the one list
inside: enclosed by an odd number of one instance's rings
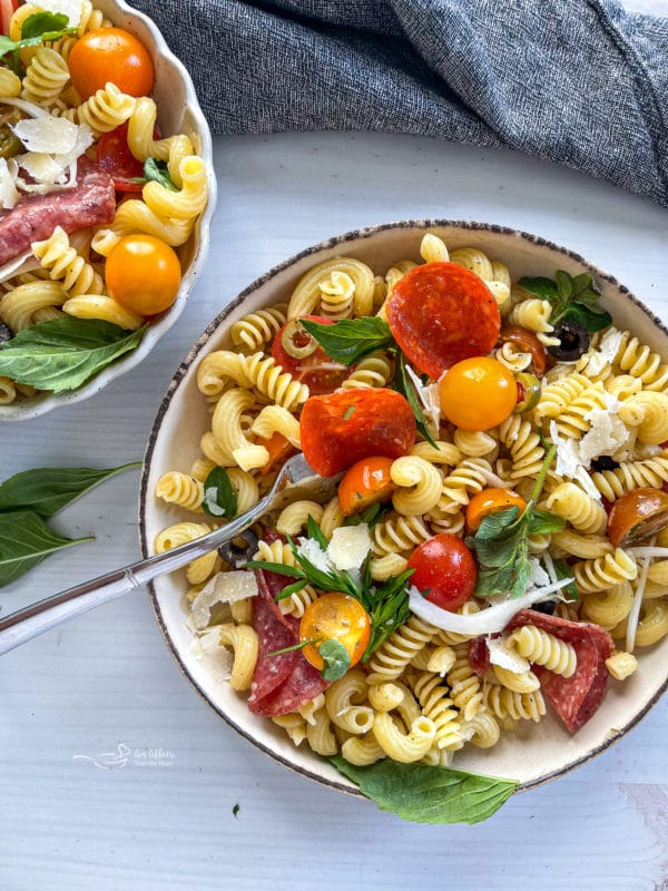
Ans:
{"label": "smaller scalloped white bowl of pasta salad, cropped at upper left", "polygon": [[183,311],[216,203],[210,133],[122,0],[9,0],[0,32],[0,420],[86,399]]}

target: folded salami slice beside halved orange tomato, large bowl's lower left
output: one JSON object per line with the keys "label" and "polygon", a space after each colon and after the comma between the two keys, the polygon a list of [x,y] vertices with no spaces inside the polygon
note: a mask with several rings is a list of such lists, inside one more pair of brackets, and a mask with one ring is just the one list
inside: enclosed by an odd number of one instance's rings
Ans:
{"label": "folded salami slice beside halved orange tomato, large bowl's lower left", "polygon": [[248,708],[257,715],[294,712],[328,686],[301,650],[268,655],[299,640],[297,619],[284,616],[274,599],[288,582],[285,576],[257,572],[259,594],[255,598],[253,627],[258,638],[258,658],[248,698]]}

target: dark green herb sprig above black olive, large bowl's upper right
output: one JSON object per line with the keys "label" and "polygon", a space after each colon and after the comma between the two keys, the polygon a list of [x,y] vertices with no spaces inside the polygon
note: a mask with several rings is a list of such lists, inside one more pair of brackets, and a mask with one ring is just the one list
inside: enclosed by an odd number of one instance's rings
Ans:
{"label": "dark green herb sprig above black olive, large bowl's upper right", "polygon": [[597,305],[601,292],[589,273],[572,277],[563,270],[554,274],[554,281],[543,276],[520,278],[520,287],[552,304],[550,324],[577,322],[590,334],[612,324],[612,316]]}

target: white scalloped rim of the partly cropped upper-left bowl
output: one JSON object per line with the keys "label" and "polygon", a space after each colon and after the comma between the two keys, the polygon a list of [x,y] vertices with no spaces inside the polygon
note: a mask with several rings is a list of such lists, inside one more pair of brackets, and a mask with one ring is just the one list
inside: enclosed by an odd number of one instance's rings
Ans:
{"label": "white scalloped rim of the partly cropped upper-left bowl", "polygon": [[210,221],[216,207],[216,176],[210,130],[199,107],[190,76],[171,52],[158,28],[143,12],[131,9],[124,0],[95,0],[95,7],[100,9],[114,25],[138,37],[149,51],[156,74],[151,96],[158,106],[157,124],[160,133],[163,136],[185,133],[191,138],[196,150],[206,161],[209,199],[193,235],[183,247],[177,248],[183,268],[178,296],[169,310],[150,324],[139,346],[118,362],[108,365],[77,390],[58,394],[42,393],[30,400],[0,405],[0,421],[24,421],[46,414],[60,405],[80,402],[99,393],[110,381],[138,365],[184,311],[188,294],[195,286],[208,252]]}

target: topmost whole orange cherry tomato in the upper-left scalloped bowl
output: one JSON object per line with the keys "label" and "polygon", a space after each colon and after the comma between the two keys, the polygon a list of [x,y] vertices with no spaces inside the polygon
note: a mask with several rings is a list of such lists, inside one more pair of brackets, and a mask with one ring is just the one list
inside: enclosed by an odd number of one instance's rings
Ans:
{"label": "topmost whole orange cherry tomato in the upper-left scalloped bowl", "polygon": [[69,55],[70,78],[81,99],[108,82],[128,96],[148,96],[154,66],[148,50],[122,28],[99,28],[81,37]]}

